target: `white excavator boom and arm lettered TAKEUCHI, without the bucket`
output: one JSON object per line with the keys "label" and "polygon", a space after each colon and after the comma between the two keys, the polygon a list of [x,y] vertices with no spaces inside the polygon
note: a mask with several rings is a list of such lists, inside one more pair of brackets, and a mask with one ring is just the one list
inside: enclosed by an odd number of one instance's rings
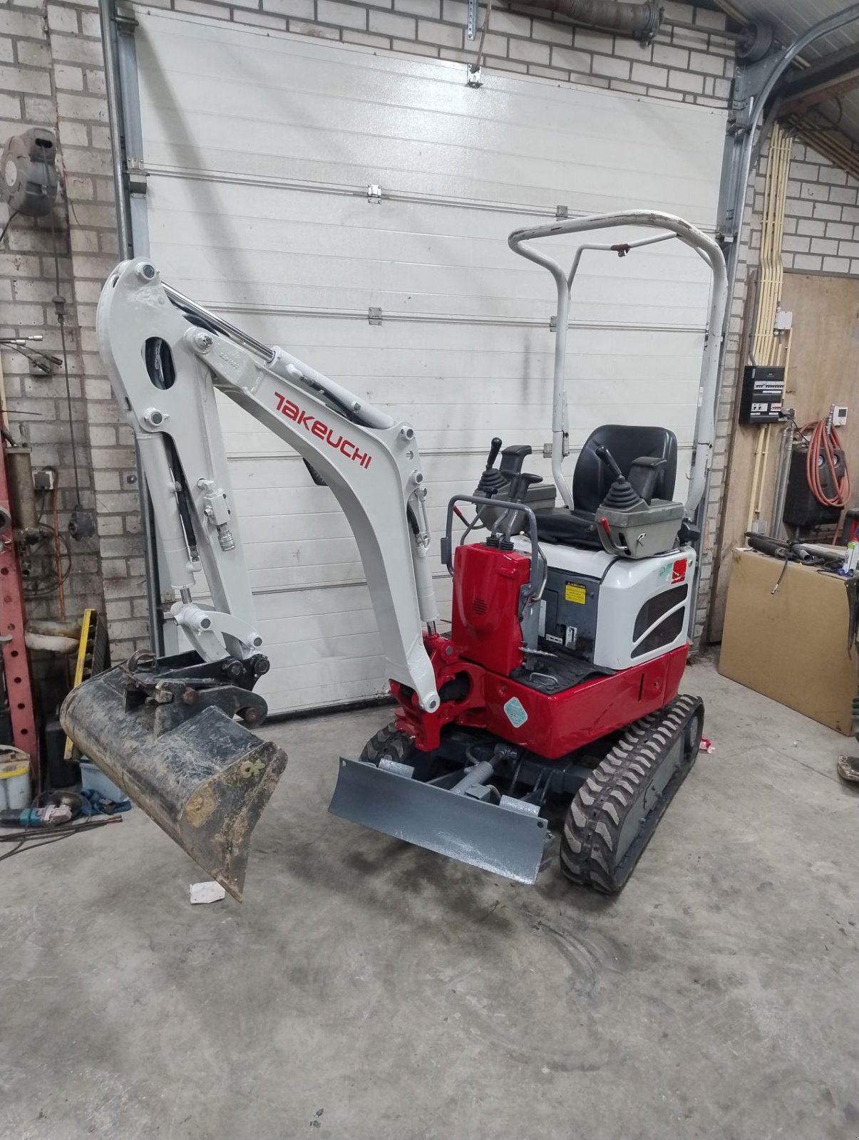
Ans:
{"label": "white excavator boom and arm lettered TAKEUCHI, without the bucket", "polygon": [[[200,656],[246,660],[262,638],[214,389],[285,440],[331,488],[364,564],[388,676],[439,705],[423,627],[437,604],[414,431],[281,348],[269,348],[164,285],[145,260],[112,274],[98,342],[137,438],[170,586],[171,614]],[[205,573],[213,608],[192,601]]]}

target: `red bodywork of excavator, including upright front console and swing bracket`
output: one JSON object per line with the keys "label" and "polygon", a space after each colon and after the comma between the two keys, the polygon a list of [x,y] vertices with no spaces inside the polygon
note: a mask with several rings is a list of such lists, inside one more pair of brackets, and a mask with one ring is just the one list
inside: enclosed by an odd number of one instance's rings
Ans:
{"label": "red bodywork of excavator, including upright front console and swing bracket", "polygon": [[[553,760],[616,732],[673,700],[688,646],[558,693],[510,674],[522,662],[519,594],[529,559],[489,546],[460,546],[454,560],[451,637],[427,634],[441,706],[424,712],[411,689],[391,682],[397,723],[421,751],[439,747],[445,725],[480,728]],[[511,703],[512,702],[512,703]]]}

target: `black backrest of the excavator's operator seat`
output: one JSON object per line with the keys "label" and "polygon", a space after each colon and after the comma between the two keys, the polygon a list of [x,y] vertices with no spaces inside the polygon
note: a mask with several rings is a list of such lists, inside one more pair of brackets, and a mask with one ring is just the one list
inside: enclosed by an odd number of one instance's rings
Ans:
{"label": "black backrest of the excavator's operator seat", "polygon": [[678,441],[667,427],[635,427],[627,424],[603,424],[587,437],[573,471],[573,502],[577,511],[595,511],[608,494],[614,475],[597,455],[607,447],[624,475],[641,456],[665,459],[656,480],[654,498],[670,499],[674,494],[678,469]]}

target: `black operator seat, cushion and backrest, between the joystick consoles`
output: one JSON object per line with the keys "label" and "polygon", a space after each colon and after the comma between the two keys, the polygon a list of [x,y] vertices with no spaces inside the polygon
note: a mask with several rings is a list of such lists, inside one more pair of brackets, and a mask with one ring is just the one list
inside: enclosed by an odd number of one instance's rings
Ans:
{"label": "black operator seat, cushion and backrest, between the joystick consoles", "polygon": [[654,490],[648,498],[672,498],[678,467],[678,441],[674,432],[667,427],[603,424],[591,432],[576,461],[573,471],[574,510],[560,506],[536,512],[537,536],[541,540],[599,545],[594,530],[595,511],[615,477],[597,454],[598,447],[608,448],[627,478],[635,459],[664,459],[665,465],[657,472]]}

